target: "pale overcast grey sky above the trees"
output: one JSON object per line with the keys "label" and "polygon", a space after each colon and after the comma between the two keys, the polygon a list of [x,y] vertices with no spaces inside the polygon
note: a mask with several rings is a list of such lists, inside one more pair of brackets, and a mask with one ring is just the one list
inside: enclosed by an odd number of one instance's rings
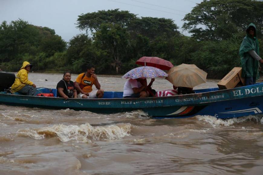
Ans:
{"label": "pale overcast grey sky above the trees", "polygon": [[[181,21],[203,0],[0,0],[0,22],[21,18],[30,24],[54,29],[65,41],[85,31],[76,28],[78,15],[119,8],[138,17],[164,17]],[[180,30],[181,32],[182,30]],[[184,33],[186,34],[186,33]]]}

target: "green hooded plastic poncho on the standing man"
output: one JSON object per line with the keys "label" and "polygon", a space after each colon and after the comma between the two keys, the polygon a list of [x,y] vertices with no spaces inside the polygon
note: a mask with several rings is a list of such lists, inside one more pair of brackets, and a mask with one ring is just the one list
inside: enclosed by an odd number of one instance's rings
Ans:
{"label": "green hooded plastic poncho on the standing man", "polygon": [[[249,35],[249,27],[255,28],[255,36],[252,38]],[[255,24],[250,23],[246,29],[246,37],[243,39],[243,42],[239,49],[239,56],[241,58],[242,66],[242,77],[258,77],[258,61],[254,59],[248,53],[249,50],[254,50],[259,55],[259,45],[257,39],[257,28]]]}

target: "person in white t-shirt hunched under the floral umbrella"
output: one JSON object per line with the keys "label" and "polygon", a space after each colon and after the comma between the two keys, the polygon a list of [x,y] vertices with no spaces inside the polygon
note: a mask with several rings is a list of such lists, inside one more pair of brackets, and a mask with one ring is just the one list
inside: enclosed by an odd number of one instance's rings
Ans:
{"label": "person in white t-shirt hunched under the floral umbrella", "polygon": [[123,87],[123,98],[143,98],[148,97],[149,93],[146,91],[146,78],[128,79]]}

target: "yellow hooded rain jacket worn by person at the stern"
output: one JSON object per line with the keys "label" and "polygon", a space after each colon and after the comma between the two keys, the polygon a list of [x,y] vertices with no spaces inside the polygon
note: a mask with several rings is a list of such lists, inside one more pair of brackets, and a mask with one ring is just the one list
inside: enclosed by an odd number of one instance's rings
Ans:
{"label": "yellow hooded rain jacket worn by person at the stern", "polygon": [[11,87],[11,90],[13,92],[17,92],[19,91],[20,89],[24,88],[24,86],[26,84],[32,86],[33,85],[33,82],[29,81],[28,80],[28,72],[25,67],[26,65],[30,64],[29,62],[27,61],[24,61],[23,62],[23,66],[21,67],[20,71],[17,73],[16,77],[15,77],[15,82],[14,84],[12,85]]}

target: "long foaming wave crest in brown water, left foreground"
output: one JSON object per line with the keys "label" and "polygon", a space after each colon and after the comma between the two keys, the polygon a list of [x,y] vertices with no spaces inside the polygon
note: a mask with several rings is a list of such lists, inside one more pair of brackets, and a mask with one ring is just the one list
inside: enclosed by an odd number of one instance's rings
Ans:
{"label": "long foaming wave crest in brown water, left foreground", "polygon": [[19,136],[29,136],[34,139],[58,137],[61,142],[91,142],[91,140],[121,139],[131,132],[131,124],[117,124],[109,126],[91,126],[89,123],[76,125],[54,125],[40,129],[19,130]]}

